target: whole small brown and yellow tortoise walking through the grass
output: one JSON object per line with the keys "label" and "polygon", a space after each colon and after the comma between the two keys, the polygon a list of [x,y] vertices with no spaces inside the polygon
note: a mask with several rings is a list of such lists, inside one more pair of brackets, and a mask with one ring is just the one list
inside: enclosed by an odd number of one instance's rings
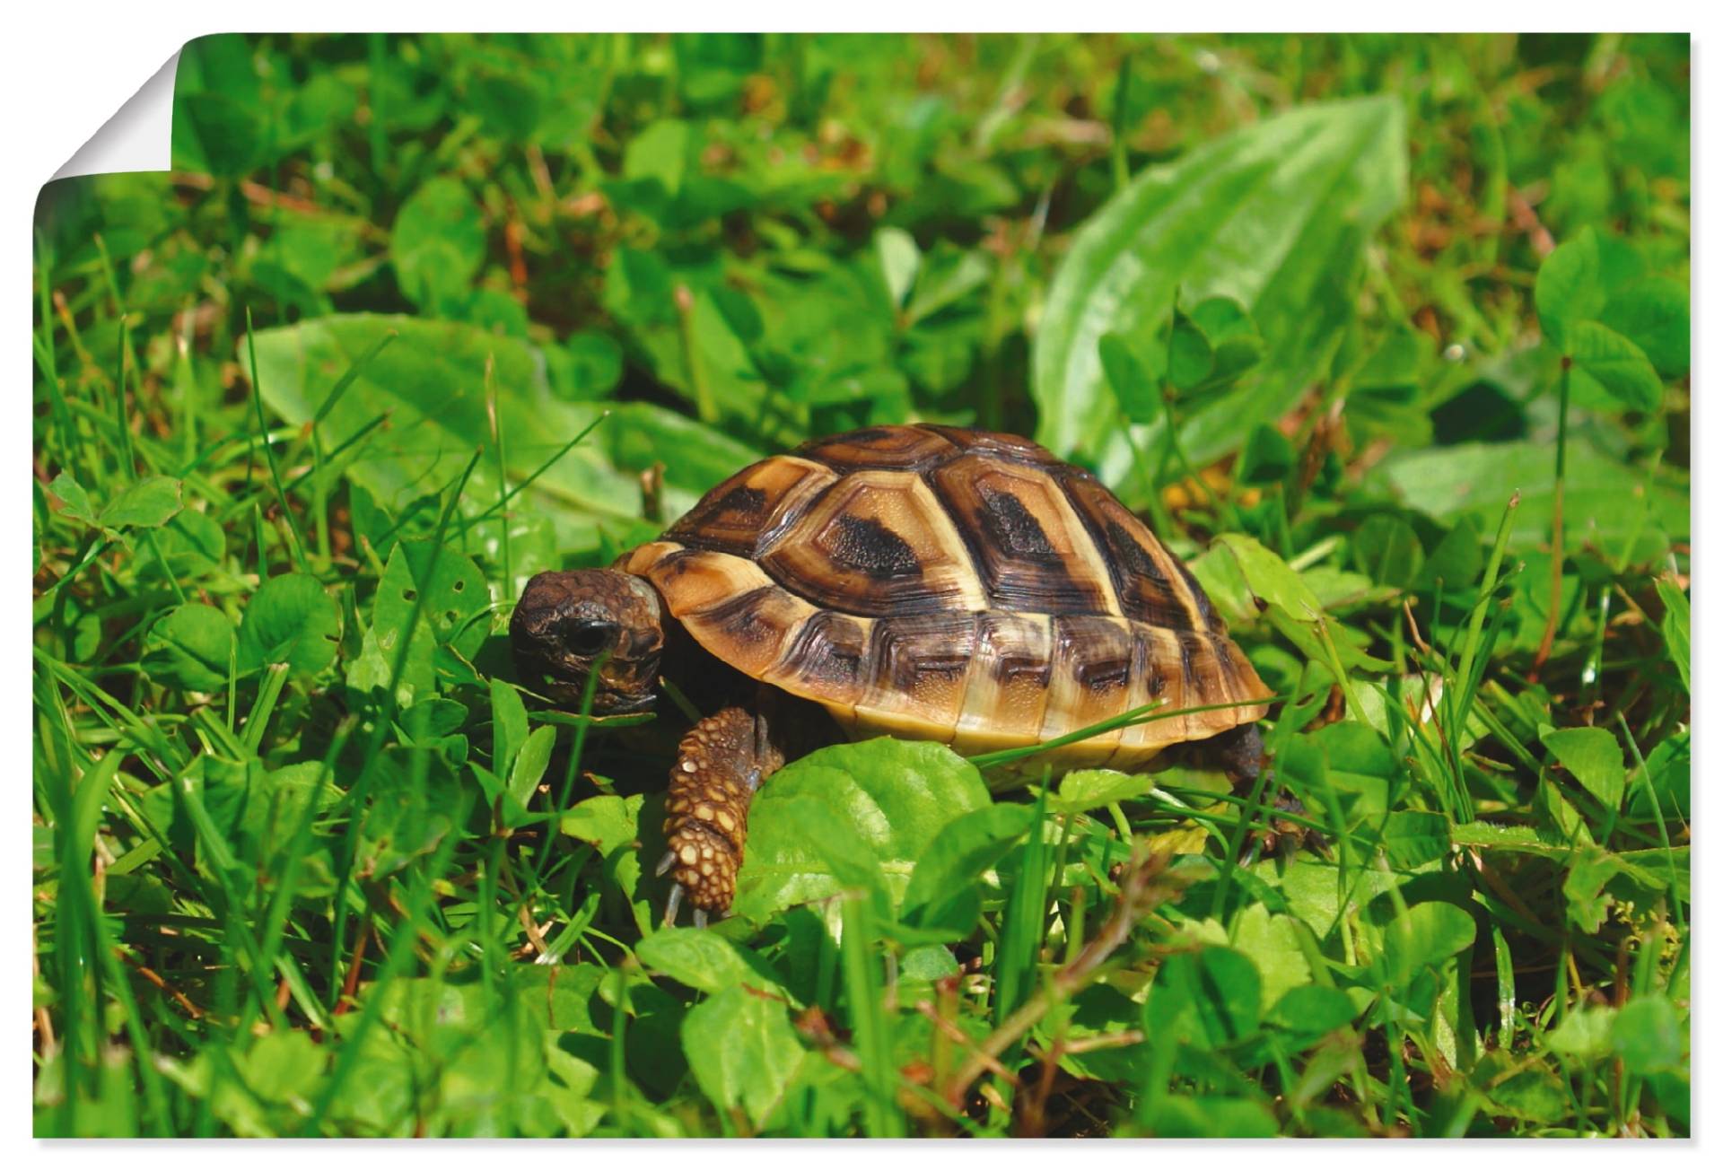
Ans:
{"label": "whole small brown and yellow tortoise walking through the grass", "polygon": [[956,427],[868,427],[762,460],[612,568],[534,577],[510,639],[526,680],[569,706],[596,663],[600,713],[648,708],[660,668],[744,684],[670,771],[672,920],[682,892],[698,921],[729,909],[753,792],[818,740],[820,708],[851,737],[970,756],[1154,701],[1208,708],[1048,749],[1036,775],[1139,770],[1192,740],[1254,775],[1268,699],[1191,572],[1099,480]]}

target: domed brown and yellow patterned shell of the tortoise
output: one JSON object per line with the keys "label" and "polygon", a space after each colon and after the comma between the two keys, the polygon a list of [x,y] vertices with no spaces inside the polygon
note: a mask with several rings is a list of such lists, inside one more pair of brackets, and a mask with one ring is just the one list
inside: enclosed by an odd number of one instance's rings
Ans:
{"label": "domed brown and yellow patterned shell of the tortoise", "polygon": [[1041,744],[1153,701],[1234,703],[1037,756],[1134,768],[1266,715],[1189,570],[1087,472],[1017,436],[868,427],[772,456],[625,553],[712,654],[851,735]]}

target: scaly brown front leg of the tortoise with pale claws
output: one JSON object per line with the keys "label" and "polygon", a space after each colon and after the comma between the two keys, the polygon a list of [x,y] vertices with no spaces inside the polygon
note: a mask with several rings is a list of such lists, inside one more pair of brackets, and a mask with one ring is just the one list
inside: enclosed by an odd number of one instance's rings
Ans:
{"label": "scaly brown front leg of the tortoise with pale claws", "polygon": [[696,723],[677,746],[665,801],[663,835],[670,851],[658,873],[675,887],[665,925],[675,923],[684,894],[694,904],[694,926],[724,916],[736,897],[736,871],[748,840],[748,806],[755,789],[784,765],[763,715],[725,708]]}

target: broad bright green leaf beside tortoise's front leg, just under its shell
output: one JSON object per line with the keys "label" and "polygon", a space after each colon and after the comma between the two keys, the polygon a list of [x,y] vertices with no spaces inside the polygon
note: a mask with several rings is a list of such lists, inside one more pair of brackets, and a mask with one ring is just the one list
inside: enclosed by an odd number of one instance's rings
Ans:
{"label": "broad bright green leaf beside tortoise's front leg, just under its shell", "polygon": [[[736,878],[737,914],[765,918],[836,894],[844,882],[798,813],[824,806],[818,837],[877,861],[894,897],[944,828],[991,804],[980,771],[942,744],[880,737],[837,744],[791,763],[748,813],[748,852]],[[834,847],[836,849],[836,847]]]}

